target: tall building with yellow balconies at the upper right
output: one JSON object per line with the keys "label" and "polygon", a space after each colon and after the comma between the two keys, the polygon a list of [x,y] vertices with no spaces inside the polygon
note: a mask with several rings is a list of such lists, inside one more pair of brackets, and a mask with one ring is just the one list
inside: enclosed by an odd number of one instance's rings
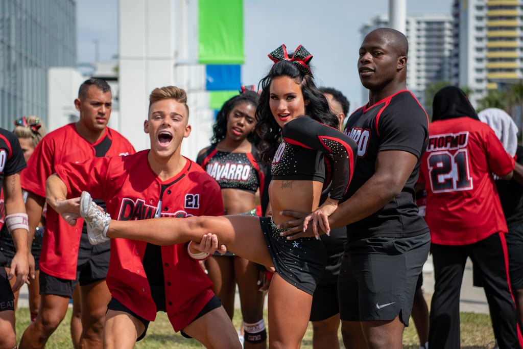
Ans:
{"label": "tall building with yellow balconies at the upper right", "polygon": [[454,0],[452,82],[471,102],[523,78],[523,0]]}

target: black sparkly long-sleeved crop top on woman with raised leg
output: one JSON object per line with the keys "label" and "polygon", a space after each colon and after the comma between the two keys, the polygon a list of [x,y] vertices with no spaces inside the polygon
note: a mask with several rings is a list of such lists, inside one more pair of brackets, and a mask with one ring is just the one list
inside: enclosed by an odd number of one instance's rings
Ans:
{"label": "black sparkly long-sleeved crop top on woman with raised leg", "polygon": [[343,198],[353,177],[356,143],[342,132],[309,116],[286,123],[282,141],[272,160],[272,179],[325,182],[324,153],[332,156],[333,173],[329,196]]}

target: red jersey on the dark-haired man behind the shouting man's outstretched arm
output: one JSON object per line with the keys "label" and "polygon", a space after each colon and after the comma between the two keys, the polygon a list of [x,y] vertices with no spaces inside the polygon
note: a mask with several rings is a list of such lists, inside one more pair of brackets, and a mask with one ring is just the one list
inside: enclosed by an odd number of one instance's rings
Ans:
{"label": "red jersey on the dark-haired man behind the shouting man's outstretched arm", "polygon": [[[47,178],[56,172],[57,165],[83,162],[95,156],[133,153],[131,143],[115,130],[107,127],[104,137],[91,144],[78,134],[75,124],[70,123],[48,133],[38,143],[27,169],[21,173],[21,186],[28,192],[46,197]],[[44,273],[67,280],[76,278],[83,220],[78,222],[71,227],[52,208],[47,210],[46,233],[40,255],[40,269]]]}

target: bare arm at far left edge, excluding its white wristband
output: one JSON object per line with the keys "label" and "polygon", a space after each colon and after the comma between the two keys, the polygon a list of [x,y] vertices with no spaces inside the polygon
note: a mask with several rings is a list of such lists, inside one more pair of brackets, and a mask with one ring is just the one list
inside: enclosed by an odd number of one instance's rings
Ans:
{"label": "bare arm at far left edge, excluding its white wristband", "polygon": [[[13,213],[26,213],[19,172],[5,177],[3,189],[6,216],[12,215]],[[11,262],[8,278],[12,279],[16,276],[13,291],[17,291],[26,282],[27,275],[29,274],[28,232],[26,229],[14,229],[10,233],[13,237],[16,254]]]}

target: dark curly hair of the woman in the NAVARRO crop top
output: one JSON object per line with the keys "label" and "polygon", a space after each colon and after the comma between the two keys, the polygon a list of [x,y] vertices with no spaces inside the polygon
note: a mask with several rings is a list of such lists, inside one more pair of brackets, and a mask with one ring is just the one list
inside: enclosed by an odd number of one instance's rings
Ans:
{"label": "dark curly hair of the woman in the NAVARRO crop top", "polygon": [[[218,143],[225,139],[225,134],[227,133],[227,116],[235,106],[240,103],[249,103],[257,107],[259,98],[260,96],[256,92],[247,90],[227,100],[216,115],[216,121],[212,126],[211,144]],[[259,141],[259,137],[255,132],[250,133],[247,139],[255,145]]]}

